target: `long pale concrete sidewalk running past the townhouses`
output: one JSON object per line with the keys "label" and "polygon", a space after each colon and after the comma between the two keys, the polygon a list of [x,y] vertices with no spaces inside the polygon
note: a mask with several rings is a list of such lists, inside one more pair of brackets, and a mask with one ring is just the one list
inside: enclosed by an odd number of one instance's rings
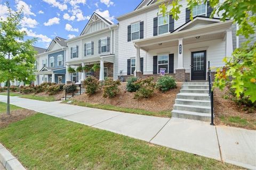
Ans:
{"label": "long pale concrete sidewalk running past the townhouses", "polygon": [[[0,95],[6,103],[6,96]],[[11,97],[11,104],[157,145],[256,169],[256,131]]]}

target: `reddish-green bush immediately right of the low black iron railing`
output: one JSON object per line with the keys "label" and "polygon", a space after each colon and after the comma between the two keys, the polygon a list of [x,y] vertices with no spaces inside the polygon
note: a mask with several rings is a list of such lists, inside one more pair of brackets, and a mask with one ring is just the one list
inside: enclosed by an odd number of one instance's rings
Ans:
{"label": "reddish-green bush immediately right of the low black iron railing", "polygon": [[83,83],[85,85],[86,94],[89,94],[89,95],[95,94],[95,92],[99,89],[100,82],[98,79],[96,79],[93,76],[87,77]]}

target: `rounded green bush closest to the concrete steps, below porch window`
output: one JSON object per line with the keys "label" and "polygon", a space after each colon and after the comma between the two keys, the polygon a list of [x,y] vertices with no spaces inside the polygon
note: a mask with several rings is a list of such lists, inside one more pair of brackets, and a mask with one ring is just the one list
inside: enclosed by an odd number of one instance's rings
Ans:
{"label": "rounded green bush closest to the concrete steps, below porch window", "polygon": [[174,89],[177,86],[176,86],[175,79],[173,79],[169,75],[164,75],[157,80],[156,87],[158,90],[165,92],[170,89]]}

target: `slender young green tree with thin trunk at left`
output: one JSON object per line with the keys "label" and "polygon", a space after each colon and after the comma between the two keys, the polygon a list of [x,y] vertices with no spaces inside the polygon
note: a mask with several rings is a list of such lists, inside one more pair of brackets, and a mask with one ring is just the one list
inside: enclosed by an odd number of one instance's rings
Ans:
{"label": "slender young green tree with thin trunk at left", "polygon": [[0,82],[7,82],[7,114],[10,115],[10,81],[29,82],[35,80],[35,39],[24,40],[25,31],[20,31],[22,9],[12,11],[0,20]]}

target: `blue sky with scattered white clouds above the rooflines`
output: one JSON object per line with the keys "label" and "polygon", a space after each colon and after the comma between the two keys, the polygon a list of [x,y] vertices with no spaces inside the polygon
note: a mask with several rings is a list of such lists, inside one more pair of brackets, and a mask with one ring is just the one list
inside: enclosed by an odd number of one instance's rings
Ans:
{"label": "blue sky with scattered white clouds above the rooflines", "polygon": [[[0,18],[6,18],[5,0],[0,0]],[[9,0],[12,10],[23,6],[22,30],[37,37],[35,46],[47,48],[56,37],[79,36],[93,12],[117,23],[116,17],[131,12],[140,0]]]}

